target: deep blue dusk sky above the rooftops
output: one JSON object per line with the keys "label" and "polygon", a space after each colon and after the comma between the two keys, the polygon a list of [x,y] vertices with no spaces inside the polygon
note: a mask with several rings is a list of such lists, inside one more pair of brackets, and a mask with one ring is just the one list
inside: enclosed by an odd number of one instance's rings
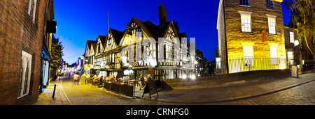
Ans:
{"label": "deep blue dusk sky above the rooftops", "polygon": [[[86,40],[107,35],[108,11],[109,27],[124,31],[132,17],[158,25],[160,2],[167,9],[168,20],[179,22],[180,32],[186,32],[188,40],[196,38],[196,49],[214,61],[219,0],[55,0],[56,35],[64,46],[64,61],[69,65],[76,62],[84,54]],[[284,24],[288,24],[289,11],[284,3],[282,7]]]}

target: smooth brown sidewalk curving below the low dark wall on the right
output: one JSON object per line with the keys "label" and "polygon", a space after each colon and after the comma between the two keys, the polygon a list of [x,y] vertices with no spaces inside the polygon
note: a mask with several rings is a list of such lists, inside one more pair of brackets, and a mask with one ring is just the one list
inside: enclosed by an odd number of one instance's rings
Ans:
{"label": "smooth brown sidewalk curving below the low dark wall on the right", "polygon": [[[311,81],[315,81],[315,73],[301,74],[298,78],[251,81],[215,88],[160,90],[159,95],[151,95],[151,100],[186,104],[229,102],[276,93]],[[137,91],[136,95],[142,96],[142,93]],[[148,94],[143,98],[150,99]]]}

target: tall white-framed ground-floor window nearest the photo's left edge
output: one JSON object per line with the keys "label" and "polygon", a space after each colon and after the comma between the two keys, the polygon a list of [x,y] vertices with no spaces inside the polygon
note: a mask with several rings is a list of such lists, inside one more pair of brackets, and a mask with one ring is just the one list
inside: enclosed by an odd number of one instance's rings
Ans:
{"label": "tall white-framed ground-floor window nearest the photo's left edge", "polygon": [[31,54],[22,51],[21,77],[19,84],[18,98],[29,94],[31,82]]}

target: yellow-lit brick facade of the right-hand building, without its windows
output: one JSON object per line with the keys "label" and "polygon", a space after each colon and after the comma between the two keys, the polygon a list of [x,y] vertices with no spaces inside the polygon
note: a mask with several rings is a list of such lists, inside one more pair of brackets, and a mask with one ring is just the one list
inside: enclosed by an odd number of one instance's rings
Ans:
{"label": "yellow-lit brick facade of the right-hand building, without its windows", "polygon": [[[250,6],[240,6],[239,1],[225,0],[225,24],[228,58],[244,56],[241,42],[255,42],[253,56],[270,57],[269,43],[278,43],[278,58],[286,58],[283,38],[283,15],[281,3],[274,1],[274,10],[267,9],[265,0],[250,1]],[[239,11],[252,12],[250,33],[241,32]],[[276,35],[269,34],[267,15],[276,16]],[[262,31],[266,31],[267,40],[262,42]]]}

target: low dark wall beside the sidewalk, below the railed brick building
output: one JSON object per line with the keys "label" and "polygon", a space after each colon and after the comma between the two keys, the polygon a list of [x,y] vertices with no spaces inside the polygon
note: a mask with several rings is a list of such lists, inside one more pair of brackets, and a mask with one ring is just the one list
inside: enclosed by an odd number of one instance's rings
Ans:
{"label": "low dark wall beside the sidewalk, below the railed brick building", "polygon": [[228,84],[242,84],[248,81],[260,81],[268,79],[283,79],[290,77],[290,70],[260,70],[251,72],[239,72],[234,74],[221,74],[209,77],[197,77],[193,79],[162,79],[162,88],[204,88],[223,86]]}

